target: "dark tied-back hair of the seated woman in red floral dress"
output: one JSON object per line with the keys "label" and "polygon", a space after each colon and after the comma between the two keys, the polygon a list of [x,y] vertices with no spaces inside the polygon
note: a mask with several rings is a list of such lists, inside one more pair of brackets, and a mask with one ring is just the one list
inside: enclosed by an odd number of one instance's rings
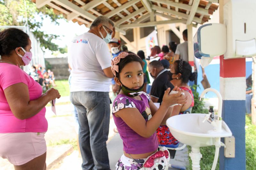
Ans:
{"label": "dark tied-back hair of the seated woman in red floral dress", "polygon": [[196,79],[196,73],[192,73],[192,67],[188,62],[183,60],[176,60],[174,62],[175,73],[181,74],[181,81],[183,83],[188,83],[188,80],[194,81]]}

